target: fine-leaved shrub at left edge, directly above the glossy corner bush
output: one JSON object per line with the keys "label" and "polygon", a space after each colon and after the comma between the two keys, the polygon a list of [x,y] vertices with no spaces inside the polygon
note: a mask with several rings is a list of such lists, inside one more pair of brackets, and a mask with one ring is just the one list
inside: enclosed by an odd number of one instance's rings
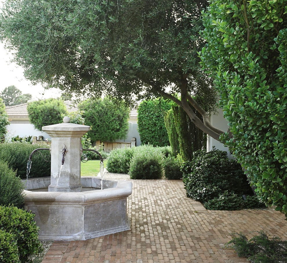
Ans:
{"label": "fine-leaved shrub at left edge, directly above the glossy corner bush", "polygon": [[10,169],[3,160],[0,160],[0,205],[13,204],[20,208],[24,203],[24,185],[16,172]]}

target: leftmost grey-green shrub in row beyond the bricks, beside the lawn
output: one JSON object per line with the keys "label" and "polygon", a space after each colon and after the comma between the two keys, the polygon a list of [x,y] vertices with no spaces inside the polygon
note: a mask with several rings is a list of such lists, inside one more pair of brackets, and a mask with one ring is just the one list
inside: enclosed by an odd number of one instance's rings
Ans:
{"label": "leftmost grey-green shrub in row beyond the bricks, beside the lawn", "polygon": [[112,150],[106,165],[108,172],[128,174],[130,170],[130,161],[136,148],[138,147]]}

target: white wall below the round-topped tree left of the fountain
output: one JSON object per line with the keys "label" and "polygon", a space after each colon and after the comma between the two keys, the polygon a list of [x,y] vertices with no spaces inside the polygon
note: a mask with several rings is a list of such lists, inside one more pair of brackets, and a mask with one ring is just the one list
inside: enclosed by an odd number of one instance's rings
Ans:
{"label": "white wall below the round-topped tree left of the fountain", "polygon": [[8,129],[8,136],[9,137],[15,137],[19,135],[19,137],[26,137],[26,136],[43,136],[43,140],[46,140],[48,138],[51,140],[51,137],[46,134],[46,132],[41,132],[36,129],[34,129],[34,126],[32,124],[10,124],[7,126]]}

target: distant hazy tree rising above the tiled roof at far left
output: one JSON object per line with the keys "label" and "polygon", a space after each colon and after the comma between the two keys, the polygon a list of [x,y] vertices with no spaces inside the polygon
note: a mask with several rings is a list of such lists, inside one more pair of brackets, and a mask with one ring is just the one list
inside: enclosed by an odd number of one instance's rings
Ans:
{"label": "distant hazy tree rising above the tiled roof at far left", "polygon": [[0,98],[5,103],[5,106],[12,106],[16,104],[26,103],[32,98],[30,93],[22,95],[22,91],[17,89],[14,85],[6,87],[1,93]]}

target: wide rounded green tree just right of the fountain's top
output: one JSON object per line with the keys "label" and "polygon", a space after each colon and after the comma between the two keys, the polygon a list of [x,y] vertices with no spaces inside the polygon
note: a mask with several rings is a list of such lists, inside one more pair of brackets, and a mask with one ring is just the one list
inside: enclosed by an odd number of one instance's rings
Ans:
{"label": "wide rounded green tree just right of the fountain's top", "polygon": [[79,109],[83,111],[86,125],[92,127],[88,137],[92,142],[114,141],[126,138],[128,134],[128,109],[116,105],[108,98],[86,100]]}

